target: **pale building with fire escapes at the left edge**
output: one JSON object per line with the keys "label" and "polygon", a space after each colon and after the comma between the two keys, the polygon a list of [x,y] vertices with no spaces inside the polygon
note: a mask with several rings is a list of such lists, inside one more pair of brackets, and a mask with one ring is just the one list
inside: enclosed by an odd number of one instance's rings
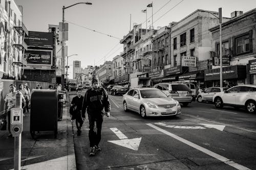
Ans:
{"label": "pale building with fire escapes at the left edge", "polygon": [[0,2],[0,78],[3,79],[22,79],[27,64],[24,37],[28,30],[22,20],[22,10],[13,0]]}

